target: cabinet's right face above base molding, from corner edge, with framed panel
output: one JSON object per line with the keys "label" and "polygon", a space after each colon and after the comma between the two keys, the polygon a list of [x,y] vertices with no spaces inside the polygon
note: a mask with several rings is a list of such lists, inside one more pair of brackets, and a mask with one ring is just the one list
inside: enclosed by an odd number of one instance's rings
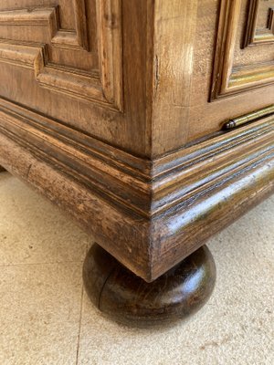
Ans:
{"label": "cabinet's right face above base molding, from corner edge, with framed panel", "polygon": [[273,0],[172,4],[156,11],[155,154],[274,101]]}

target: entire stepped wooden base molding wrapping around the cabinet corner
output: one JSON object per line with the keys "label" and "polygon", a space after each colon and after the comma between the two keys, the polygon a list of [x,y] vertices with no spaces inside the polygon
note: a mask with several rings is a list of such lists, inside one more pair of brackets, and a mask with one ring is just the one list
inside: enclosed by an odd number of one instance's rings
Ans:
{"label": "entire stepped wooden base molding wrapping around the cabinet corner", "polygon": [[274,115],[149,160],[0,100],[0,165],[152,282],[274,190]]}

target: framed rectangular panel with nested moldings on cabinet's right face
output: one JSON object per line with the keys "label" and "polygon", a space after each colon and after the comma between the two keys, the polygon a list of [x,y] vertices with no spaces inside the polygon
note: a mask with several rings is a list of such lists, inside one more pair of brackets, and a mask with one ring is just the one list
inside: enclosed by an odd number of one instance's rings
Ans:
{"label": "framed rectangular panel with nested moldings on cabinet's right face", "polygon": [[243,4],[240,0],[222,3],[211,100],[274,82],[274,1],[249,1],[240,34]]}

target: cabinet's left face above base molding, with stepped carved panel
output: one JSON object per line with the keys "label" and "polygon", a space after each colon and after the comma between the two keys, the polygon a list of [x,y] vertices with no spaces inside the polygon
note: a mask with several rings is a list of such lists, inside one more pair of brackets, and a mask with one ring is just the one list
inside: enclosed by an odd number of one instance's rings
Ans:
{"label": "cabinet's left face above base molding, with stepped carved panel", "polygon": [[[125,17],[122,25],[121,12],[121,0],[1,1],[2,106],[3,99],[10,100],[100,140],[143,152],[142,134],[132,127],[143,120],[142,108],[135,112],[130,93],[123,98],[131,57],[122,67],[122,27],[130,33],[131,20]],[[132,14],[139,19],[142,11]],[[142,18],[136,22],[145,30]],[[124,50],[131,51],[129,47]],[[142,52],[131,55],[138,65]],[[136,72],[128,79],[138,84]],[[142,93],[137,85],[134,98],[141,104]]]}

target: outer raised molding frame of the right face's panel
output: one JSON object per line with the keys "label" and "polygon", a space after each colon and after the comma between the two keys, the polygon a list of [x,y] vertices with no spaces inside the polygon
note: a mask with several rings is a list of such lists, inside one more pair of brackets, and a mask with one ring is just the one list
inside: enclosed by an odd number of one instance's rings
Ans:
{"label": "outer raised molding frame of the right face's panel", "polygon": [[243,67],[234,66],[241,6],[242,0],[221,0],[210,101],[274,82],[274,60]]}

